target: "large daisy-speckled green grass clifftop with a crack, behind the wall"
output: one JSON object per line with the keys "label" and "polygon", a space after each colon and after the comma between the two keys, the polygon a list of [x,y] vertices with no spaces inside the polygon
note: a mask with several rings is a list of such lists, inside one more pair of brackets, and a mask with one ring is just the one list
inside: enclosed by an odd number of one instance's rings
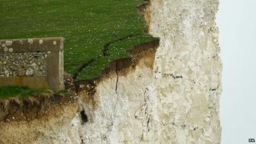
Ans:
{"label": "large daisy-speckled green grass clifftop with a crack, behind the wall", "polygon": [[[65,71],[77,73],[76,81],[93,79],[111,61],[128,58],[127,51],[134,45],[156,39],[144,33],[146,26],[136,8],[141,3],[143,0],[1,0],[0,39],[63,36]],[[104,56],[104,45],[115,40]],[[79,70],[90,60],[92,63]]]}

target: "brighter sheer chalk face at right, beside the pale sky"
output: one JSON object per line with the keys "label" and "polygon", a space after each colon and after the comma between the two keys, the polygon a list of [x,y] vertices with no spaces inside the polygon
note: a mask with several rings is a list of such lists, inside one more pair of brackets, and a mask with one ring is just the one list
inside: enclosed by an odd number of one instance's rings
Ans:
{"label": "brighter sheer chalk face at right, beside the pale sky", "polygon": [[218,0],[152,1],[159,143],[220,143]]}

